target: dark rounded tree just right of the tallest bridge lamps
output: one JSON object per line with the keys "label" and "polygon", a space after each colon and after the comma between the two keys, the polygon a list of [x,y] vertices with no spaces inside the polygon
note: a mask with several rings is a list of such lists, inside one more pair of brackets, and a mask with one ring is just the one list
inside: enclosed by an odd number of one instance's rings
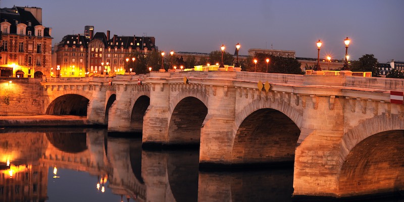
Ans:
{"label": "dark rounded tree just right of the tallest bridge lamps", "polygon": [[350,70],[352,72],[372,72],[373,77],[379,77],[380,70],[377,63],[377,59],[373,54],[366,54],[358,61],[352,61]]}

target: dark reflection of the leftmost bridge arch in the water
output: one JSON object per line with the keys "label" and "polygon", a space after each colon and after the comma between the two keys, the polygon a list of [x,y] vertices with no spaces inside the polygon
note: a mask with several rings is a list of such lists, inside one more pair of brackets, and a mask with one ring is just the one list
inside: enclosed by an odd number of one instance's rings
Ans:
{"label": "dark reflection of the leftmost bridge arch in the water", "polygon": [[49,142],[67,153],[80,153],[87,149],[86,133],[52,132],[46,133]]}

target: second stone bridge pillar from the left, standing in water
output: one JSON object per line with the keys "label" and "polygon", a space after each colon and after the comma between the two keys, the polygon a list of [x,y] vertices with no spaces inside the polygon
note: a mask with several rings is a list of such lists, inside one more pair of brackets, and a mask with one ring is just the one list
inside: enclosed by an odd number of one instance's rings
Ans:
{"label": "second stone bridge pillar from the left, standing in water", "polygon": [[[109,132],[130,132],[132,93],[126,84],[116,85],[116,100],[108,113]],[[107,100],[108,101],[108,100]]]}

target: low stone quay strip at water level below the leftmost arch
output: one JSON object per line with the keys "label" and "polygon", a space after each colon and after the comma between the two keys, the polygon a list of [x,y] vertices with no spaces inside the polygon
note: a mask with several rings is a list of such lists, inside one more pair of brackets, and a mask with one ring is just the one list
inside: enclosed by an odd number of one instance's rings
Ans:
{"label": "low stone quay strip at water level below the leftmost arch", "polygon": [[87,117],[72,115],[0,116],[0,127],[88,126]]}

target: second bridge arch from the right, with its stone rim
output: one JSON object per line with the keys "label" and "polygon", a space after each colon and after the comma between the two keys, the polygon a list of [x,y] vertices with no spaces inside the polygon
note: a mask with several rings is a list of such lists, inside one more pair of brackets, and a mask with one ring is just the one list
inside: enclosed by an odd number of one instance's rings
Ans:
{"label": "second bridge arch from the right, with its stone rim", "polygon": [[302,113],[286,102],[253,100],[235,116],[232,163],[292,162],[301,122]]}

